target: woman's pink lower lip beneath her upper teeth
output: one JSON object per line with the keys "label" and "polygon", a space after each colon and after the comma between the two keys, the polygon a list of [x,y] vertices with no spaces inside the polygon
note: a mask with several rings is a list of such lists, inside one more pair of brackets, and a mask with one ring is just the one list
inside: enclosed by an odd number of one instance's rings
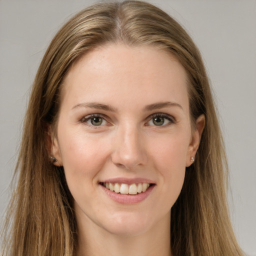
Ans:
{"label": "woman's pink lower lip beneath her upper teeth", "polygon": [[114,191],[111,191],[107,188],[105,188],[103,185],[100,185],[100,187],[103,189],[103,191],[113,200],[119,203],[123,204],[134,204],[143,201],[153,190],[155,185],[149,186],[145,192],[137,193],[137,194],[120,194],[115,193]]}

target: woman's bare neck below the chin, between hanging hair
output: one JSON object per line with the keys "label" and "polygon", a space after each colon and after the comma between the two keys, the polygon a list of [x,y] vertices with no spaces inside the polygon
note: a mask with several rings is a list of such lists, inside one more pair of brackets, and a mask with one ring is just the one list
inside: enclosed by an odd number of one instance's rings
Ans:
{"label": "woman's bare neck below the chin, between hanging hair", "polygon": [[92,221],[79,221],[78,218],[76,256],[171,256],[169,216],[137,235],[109,233]]}

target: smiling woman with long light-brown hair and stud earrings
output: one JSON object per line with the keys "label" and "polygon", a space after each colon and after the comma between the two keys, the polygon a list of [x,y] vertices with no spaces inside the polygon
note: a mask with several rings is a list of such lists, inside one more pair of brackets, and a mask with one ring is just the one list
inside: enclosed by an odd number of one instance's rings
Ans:
{"label": "smiling woman with long light-brown hair and stud earrings", "polygon": [[243,255],[203,62],[155,6],[71,18],[38,68],[23,132],[10,255]]}

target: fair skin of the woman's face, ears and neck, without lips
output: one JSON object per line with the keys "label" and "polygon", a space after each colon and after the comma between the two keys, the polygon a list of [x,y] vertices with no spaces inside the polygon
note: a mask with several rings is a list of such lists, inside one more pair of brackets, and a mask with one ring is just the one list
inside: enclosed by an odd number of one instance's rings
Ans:
{"label": "fair skin of the woman's face, ears and neck, without lips", "polygon": [[[101,125],[93,125],[90,114],[99,114]],[[152,114],[164,114],[162,125]],[[73,64],[51,154],[63,165],[74,198],[77,255],[171,255],[170,209],[203,126],[200,116],[191,127],[186,72],[170,53],[107,44]],[[116,177],[155,185],[141,202],[122,204],[99,184]]]}

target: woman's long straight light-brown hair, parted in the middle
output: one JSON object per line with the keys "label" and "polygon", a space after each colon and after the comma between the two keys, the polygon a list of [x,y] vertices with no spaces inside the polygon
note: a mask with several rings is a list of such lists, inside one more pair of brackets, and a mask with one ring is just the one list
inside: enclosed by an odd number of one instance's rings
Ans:
{"label": "woman's long straight light-brown hair, parted in the middle", "polygon": [[36,73],[16,166],[18,182],[7,213],[4,253],[75,254],[76,221],[62,167],[46,146],[47,126],[56,123],[61,81],[69,66],[107,42],[152,45],[171,52],[188,76],[191,120],[205,115],[195,163],[186,169],[171,208],[175,256],[243,255],[234,237],[226,202],[227,166],[208,78],[200,53],[185,30],[159,8],[141,1],[94,4],[57,32]]}

